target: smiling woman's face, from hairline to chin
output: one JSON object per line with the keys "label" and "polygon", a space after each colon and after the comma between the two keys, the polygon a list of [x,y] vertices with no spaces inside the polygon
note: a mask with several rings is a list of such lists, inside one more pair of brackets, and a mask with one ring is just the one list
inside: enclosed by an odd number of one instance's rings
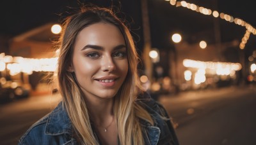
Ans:
{"label": "smiling woman's face, from hairline to chin", "polygon": [[128,71],[124,37],[112,24],[85,27],[77,36],[69,69],[86,99],[109,99],[116,95]]}

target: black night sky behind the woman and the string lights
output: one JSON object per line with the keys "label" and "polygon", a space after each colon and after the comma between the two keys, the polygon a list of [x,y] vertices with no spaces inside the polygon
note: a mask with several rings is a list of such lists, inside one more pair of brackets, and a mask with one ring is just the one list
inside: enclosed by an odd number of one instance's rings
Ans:
{"label": "black night sky behind the woman and the string lights", "polygon": [[[132,35],[138,48],[143,47],[143,28],[141,20],[141,4],[138,0],[80,0],[81,3],[93,3],[99,6],[116,5],[125,13],[125,17],[131,25]],[[211,10],[218,10],[233,17],[242,18],[244,21],[256,27],[256,2],[253,0],[188,0],[198,6],[204,6]],[[1,1],[0,35],[13,37],[22,32],[29,31],[48,22],[60,22],[60,14],[70,11],[79,4],[71,0],[26,0],[26,1]],[[152,47],[166,49],[172,47],[170,35],[180,32],[185,41],[197,43],[204,38],[209,43],[214,43],[213,21],[214,17],[202,15],[187,8],[175,7],[164,0],[148,0],[148,13],[150,17]],[[220,19],[220,18],[219,18]],[[227,42],[234,39],[239,41],[244,36],[246,29],[225,20],[219,20],[221,29],[221,41]],[[255,50],[256,37],[251,34],[248,46]]]}

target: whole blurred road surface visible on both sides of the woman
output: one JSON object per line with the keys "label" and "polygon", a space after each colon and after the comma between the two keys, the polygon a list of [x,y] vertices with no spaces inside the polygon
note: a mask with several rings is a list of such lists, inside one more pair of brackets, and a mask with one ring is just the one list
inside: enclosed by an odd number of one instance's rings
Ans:
{"label": "whole blurred road surface visible on both sides of the woman", "polygon": [[[60,95],[29,97],[0,106],[0,144],[20,135],[60,101]],[[180,145],[256,144],[256,88],[228,87],[161,96]]]}

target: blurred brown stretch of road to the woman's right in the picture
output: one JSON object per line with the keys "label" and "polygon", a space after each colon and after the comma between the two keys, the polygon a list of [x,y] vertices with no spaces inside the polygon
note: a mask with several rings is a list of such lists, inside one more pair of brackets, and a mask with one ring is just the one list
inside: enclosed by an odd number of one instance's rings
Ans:
{"label": "blurred brown stretch of road to the woman's right in the picture", "polygon": [[159,99],[177,125],[180,145],[255,145],[256,87],[180,93]]}

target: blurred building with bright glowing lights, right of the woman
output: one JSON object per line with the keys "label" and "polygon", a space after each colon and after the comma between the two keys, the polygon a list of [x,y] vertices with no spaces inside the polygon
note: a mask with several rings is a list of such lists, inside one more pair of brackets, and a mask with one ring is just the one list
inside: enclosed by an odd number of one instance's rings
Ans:
{"label": "blurred building with bright glowing lights, right of the woman", "polygon": [[[239,78],[237,71],[241,69],[240,60],[230,62],[223,54],[230,47],[234,47],[238,51],[239,43],[231,41],[222,43],[220,46],[207,45],[206,48],[202,49],[198,43],[189,44],[186,41],[177,43],[175,52],[170,57],[174,58],[170,59],[170,64],[172,64],[170,76],[172,76],[175,84],[179,85],[182,90],[186,90],[187,88],[218,86],[220,82],[230,82],[227,85],[236,83]],[[237,68],[233,69],[233,66],[237,66]],[[203,74],[198,74],[201,72]],[[196,77],[199,76],[202,77],[201,83],[196,82],[198,79]]]}

